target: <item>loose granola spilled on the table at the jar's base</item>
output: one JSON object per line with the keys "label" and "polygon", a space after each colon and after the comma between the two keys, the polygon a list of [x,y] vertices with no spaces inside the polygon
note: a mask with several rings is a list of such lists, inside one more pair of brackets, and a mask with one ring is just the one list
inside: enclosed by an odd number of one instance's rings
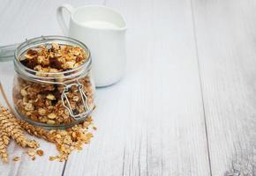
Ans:
{"label": "loose granola spilled on the table at the jar's base", "polygon": [[[88,117],[86,121],[79,123],[72,128],[46,130],[40,127],[34,127],[26,121],[19,121],[19,125],[32,136],[43,138],[50,143],[56,144],[58,155],[50,156],[49,160],[66,161],[72,154],[73,150],[82,150],[83,144],[90,143],[93,134],[92,129],[96,130],[93,125],[93,119]],[[35,154],[42,156],[42,150],[28,150],[28,155],[33,159]],[[34,160],[34,159],[33,159]]]}

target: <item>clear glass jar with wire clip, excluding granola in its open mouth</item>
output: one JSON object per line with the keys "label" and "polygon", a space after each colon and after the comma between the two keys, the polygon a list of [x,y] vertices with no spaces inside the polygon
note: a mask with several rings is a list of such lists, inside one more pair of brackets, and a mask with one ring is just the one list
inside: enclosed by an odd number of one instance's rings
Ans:
{"label": "clear glass jar with wire clip, excluding granola in its open mouth", "polygon": [[[77,46],[84,49],[87,60],[78,67],[61,72],[29,69],[20,58],[28,49],[48,46]],[[19,116],[44,128],[68,128],[86,118],[94,110],[94,81],[90,51],[79,40],[63,36],[42,36],[26,40],[15,51],[16,71],[12,99]]]}

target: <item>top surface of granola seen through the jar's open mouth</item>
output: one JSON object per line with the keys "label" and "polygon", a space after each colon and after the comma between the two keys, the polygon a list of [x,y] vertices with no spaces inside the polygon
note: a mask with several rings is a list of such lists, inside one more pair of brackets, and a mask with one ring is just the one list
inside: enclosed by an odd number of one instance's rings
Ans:
{"label": "top surface of granola seen through the jar's open mouth", "polygon": [[27,68],[42,72],[72,70],[87,59],[87,52],[83,48],[57,43],[28,49],[25,55],[19,57]]}

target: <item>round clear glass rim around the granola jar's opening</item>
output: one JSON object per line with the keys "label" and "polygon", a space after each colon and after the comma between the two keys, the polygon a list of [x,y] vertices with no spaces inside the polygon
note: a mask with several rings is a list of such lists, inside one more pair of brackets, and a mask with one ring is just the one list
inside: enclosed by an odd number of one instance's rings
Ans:
{"label": "round clear glass rim around the granola jar's opening", "polygon": [[[48,77],[49,79],[56,78],[57,75],[64,76],[63,78],[65,78],[65,77],[69,77],[69,75],[71,75],[72,72],[82,70],[82,73],[84,73],[85,71],[88,72],[91,69],[91,64],[92,64],[91,52],[90,52],[89,48],[87,48],[86,44],[84,44],[83,42],[81,42],[79,40],[73,39],[71,37],[65,37],[65,36],[60,36],[60,35],[47,35],[47,36],[35,37],[35,38],[26,40],[19,44],[19,46],[15,49],[15,52],[14,52],[14,61],[13,62],[14,62],[15,70],[18,71],[20,74],[26,74],[26,75],[29,74],[29,76],[34,77],[34,78],[47,78],[47,77],[42,77],[40,75],[36,75],[36,73],[41,73],[41,71],[32,70],[30,68],[27,68],[21,62],[19,62],[19,56],[20,56],[19,52],[24,48],[26,48],[25,49],[25,51],[26,51],[29,48],[34,48],[36,46],[39,46],[41,44],[44,44],[44,43],[47,43],[50,41],[53,42],[54,40],[70,42],[75,45],[78,45],[79,47],[85,49],[85,51],[87,52],[88,58],[87,58],[86,62],[83,62],[81,65],[79,65],[78,67],[76,67],[72,70],[64,70],[64,71],[60,71],[60,72],[43,72],[43,75],[54,76],[54,77]],[[85,69],[85,70],[83,70],[83,69]]]}

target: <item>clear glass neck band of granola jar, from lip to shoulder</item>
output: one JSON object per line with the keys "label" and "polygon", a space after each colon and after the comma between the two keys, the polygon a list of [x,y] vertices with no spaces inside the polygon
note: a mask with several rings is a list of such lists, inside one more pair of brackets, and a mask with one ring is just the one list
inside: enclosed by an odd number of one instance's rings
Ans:
{"label": "clear glass neck band of granola jar, from lip to shoulder", "polygon": [[[42,72],[37,70],[32,70],[27,68],[19,61],[19,57],[24,55],[24,53],[29,48],[36,48],[40,45],[49,44],[51,42],[58,42],[64,45],[73,45],[79,46],[88,54],[88,58],[86,62],[83,62],[79,67],[74,68],[72,70],[65,70],[62,72]],[[79,79],[80,77],[85,77],[91,70],[92,67],[92,59],[90,55],[90,51],[86,45],[81,43],[79,40],[74,40],[72,38],[63,37],[63,36],[45,36],[34,38],[32,40],[26,40],[19,45],[15,50],[15,59],[14,59],[14,70],[17,72],[19,77],[23,77],[24,79],[44,83],[44,84],[65,84],[70,83],[74,80]]]}

